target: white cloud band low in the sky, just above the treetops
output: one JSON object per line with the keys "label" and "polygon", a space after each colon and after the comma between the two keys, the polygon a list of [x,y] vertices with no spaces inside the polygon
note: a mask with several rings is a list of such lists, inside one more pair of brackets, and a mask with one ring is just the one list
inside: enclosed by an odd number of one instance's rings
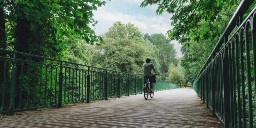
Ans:
{"label": "white cloud band low in the sky, just above the treetops", "polygon": [[99,28],[102,26],[100,24],[105,24],[105,26],[108,26],[107,28],[109,28],[116,21],[121,21],[124,24],[131,22],[135,26],[138,26],[143,33],[149,34],[166,34],[166,32],[172,28],[170,25],[170,20],[163,16],[147,17],[142,14],[129,15],[119,12],[110,12],[108,10],[101,10],[101,8],[94,12],[94,19],[99,21],[99,23],[96,25],[97,34],[99,34],[98,32],[106,32],[106,30]]}

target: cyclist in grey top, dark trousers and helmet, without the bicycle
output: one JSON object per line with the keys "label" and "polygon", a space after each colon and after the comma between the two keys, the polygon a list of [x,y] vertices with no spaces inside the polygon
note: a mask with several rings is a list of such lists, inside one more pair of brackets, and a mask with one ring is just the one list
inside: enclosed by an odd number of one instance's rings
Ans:
{"label": "cyclist in grey top, dark trousers and helmet, without the bicycle", "polygon": [[[156,69],[154,68],[154,65],[152,63],[150,63],[150,61],[151,61],[151,59],[149,57],[147,57],[146,58],[146,63],[144,63],[143,66],[142,66],[142,73],[143,73],[144,84],[147,83],[147,78],[148,78],[148,80],[150,82],[150,93],[153,93],[152,92],[153,80],[152,80],[151,70],[153,70],[156,74]],[[144,87],[143,90],[145,92],[146,88]]]}

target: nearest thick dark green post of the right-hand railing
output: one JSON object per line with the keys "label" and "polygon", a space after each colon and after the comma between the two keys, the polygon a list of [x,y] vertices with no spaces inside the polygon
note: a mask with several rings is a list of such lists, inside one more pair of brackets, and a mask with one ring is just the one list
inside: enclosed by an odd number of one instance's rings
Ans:
{"label": "nearest thick dark green post of the right-hand railing", "polygon": [[224,91],[224,128],[229,128],[230,120],[230,88],[229,88],[228,57],[222,59],[223,91]]}

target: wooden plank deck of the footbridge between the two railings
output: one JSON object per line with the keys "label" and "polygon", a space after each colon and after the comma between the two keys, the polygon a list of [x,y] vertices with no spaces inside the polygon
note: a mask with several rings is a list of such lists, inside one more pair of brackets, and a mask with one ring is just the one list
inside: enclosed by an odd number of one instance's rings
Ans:
{"label": "wooden plank deck of the footbridge between the two railings", "polygon": [[0,118],[0,128],[222,128],[193,89],[156,92],[18,112]]}

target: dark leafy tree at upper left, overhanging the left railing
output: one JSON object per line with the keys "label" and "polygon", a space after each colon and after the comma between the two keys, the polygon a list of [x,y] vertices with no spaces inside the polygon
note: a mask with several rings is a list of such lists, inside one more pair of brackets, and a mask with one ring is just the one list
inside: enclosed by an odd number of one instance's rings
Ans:
{"label": "dark leafy tree at upper left, overhanging the left railing", "polygon": [[92,11],[105,3],[100,0],[1,0],[0,7],[5,8],[4,13],[0,11],[0,17],[5,19],[1,30],[8,33],[2,37],[7,40],[4,44],[20,52],[49,55],[47,52],[54,51],[58,55],[72,38],[92,45],[102,42],[89,24],[97,24]]}

